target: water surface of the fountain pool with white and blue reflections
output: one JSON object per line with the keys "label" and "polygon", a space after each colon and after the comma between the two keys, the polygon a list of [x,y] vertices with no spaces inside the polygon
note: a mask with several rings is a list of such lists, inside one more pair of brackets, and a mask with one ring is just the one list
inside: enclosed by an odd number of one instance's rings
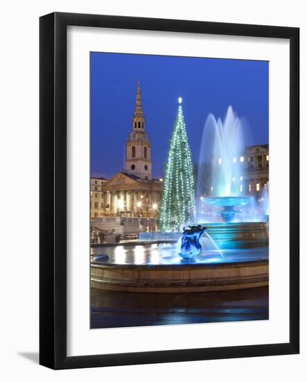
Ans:
{"label": "water surface of the fountain pool with white and blue reflections", "polygon": [[[177,254],[177,244],[135,244],[91,248],[91,260],[119,265],[184,265],[186,261]],[[107,256],[105,256],[107,255]],[[201,251],[193,263],[220,264],[268,259],[268,248],[216,249]],[[191,263],[191,262],[188,262]]]}

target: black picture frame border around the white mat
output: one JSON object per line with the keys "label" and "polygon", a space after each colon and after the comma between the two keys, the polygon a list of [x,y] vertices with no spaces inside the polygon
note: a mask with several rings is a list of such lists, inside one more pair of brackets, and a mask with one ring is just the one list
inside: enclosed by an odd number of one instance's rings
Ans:
{"label": "black picture frame border around the white mat", "polygon": [[[290,40],[290,341],[67,356],[67,26]],[[299,28],[74,13],[40,17],[40,364],[52,369],[299,353]]]}

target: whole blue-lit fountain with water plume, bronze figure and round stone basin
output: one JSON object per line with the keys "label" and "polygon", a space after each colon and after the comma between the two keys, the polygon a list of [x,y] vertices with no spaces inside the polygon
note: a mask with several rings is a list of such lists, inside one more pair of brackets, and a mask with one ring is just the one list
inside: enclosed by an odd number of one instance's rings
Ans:
{"label": "whole blue-lit fountain with water plume, bronze figure and round stone basin", "polygon": [[224,122],[209,115],[200,149],[197,222],[186,222],[183,234],[142,233],[137,244],[92,249],[92,287],[186,293],[268,285],[267,190],[259,217],[244,188],[246,130],[231,107]]}

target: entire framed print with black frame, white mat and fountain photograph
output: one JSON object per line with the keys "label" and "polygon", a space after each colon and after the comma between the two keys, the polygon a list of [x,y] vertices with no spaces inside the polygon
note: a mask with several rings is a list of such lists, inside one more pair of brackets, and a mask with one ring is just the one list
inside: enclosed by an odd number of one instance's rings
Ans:
{"label": "entire framed print with black frame, white mat and fountain photograph", "polygon": [[299,28],[40,19],[40,363],[299,353]]}

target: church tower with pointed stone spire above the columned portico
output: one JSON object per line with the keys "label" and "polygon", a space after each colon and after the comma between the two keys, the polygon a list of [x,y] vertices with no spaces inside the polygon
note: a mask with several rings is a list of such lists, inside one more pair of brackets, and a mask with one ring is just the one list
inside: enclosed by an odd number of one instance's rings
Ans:
{"label": "church tower with pointed stone spire above the columned portico", "polygon": [[137,100],[132,119],[132,131],[126,144],[125,172],[141,179],[151,180],[151,148],[146,133],[139,80],[137,81]]}

